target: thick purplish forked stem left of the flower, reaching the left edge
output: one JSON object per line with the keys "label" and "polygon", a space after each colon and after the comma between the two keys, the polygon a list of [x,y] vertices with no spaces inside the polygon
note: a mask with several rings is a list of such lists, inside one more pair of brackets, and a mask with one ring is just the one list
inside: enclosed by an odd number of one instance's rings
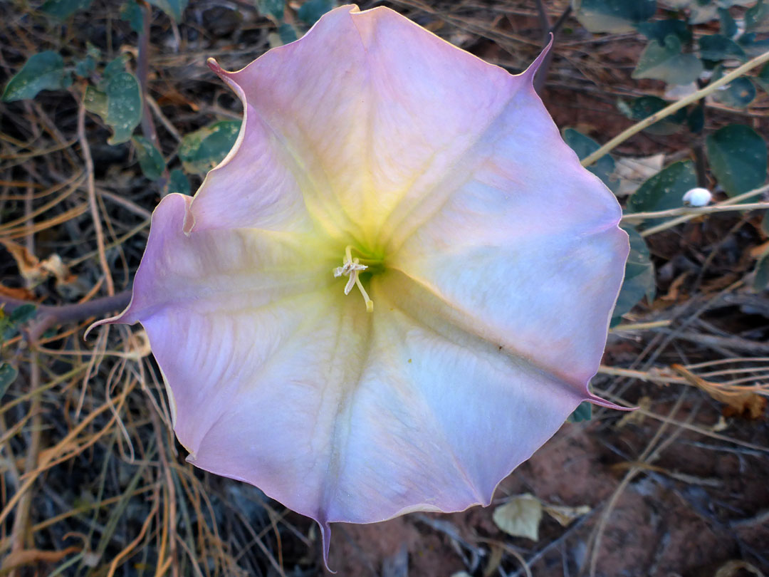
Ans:
{"label": "thick purplish forked stem left of the flower, reaching the left edge", "polygon": [[[130,290],[118,292],[117,295],[105,296],[102,299],[78,302],[75,305],[37,305],[37,314],[27,330],[28,339],[36,342],[45,331],[54,326],[65,325],[68,322],[80,322],[92,317],[103,316],[108,312],[125,309],[128,302],[131,302]],[[35,305],[35,303],[0,296],[0,305],[5,305],[5,312],[12,312],[22,305]]]}

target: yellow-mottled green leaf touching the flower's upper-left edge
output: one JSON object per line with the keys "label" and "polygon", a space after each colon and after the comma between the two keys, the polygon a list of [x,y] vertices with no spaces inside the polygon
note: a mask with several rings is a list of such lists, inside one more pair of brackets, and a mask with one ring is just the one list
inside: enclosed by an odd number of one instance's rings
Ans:
{"label": "yellow-mottled green leaf touching the flower's upper-left edge", "polygon": [[221,162],[238,138],[241,122],[221,120],[181,138],[179,158],[187,172],[203,175]]}

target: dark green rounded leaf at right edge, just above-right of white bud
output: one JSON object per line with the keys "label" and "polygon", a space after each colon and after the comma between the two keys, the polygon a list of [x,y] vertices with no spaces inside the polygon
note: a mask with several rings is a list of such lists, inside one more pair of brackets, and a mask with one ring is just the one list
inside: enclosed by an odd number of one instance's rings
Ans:
{"label": "dark green rounded leaf at right edge, just above-right of white bud", "polygon": [[736,196],[764,184],[767,144],[750,126],[724,126],[705,140],[707,159],[718,184]]}

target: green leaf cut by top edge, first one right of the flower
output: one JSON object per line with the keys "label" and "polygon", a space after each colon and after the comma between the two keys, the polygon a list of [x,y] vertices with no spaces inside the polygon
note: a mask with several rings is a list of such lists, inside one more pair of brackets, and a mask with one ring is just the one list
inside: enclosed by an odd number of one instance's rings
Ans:
{"label": "green leaf cut by top edge, first one right of the flower", "polygon": [[574,15],[590,32],[633,32],[657,11],[656,0],[571,0]]}

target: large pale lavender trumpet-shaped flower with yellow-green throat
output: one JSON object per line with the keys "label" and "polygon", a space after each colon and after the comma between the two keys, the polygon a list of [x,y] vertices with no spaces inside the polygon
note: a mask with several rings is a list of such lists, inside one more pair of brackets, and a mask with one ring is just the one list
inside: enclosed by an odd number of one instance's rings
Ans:
{"label": "large pale lavender trumpet-shaped flower with yellow-green throat", "polygon": [[[582,401],[628,252],[535,94],[387,8],[238,72],[133,299],[189,461],[315,519],[488,504]],[[349,293],[349,294],[348,294]]]}

